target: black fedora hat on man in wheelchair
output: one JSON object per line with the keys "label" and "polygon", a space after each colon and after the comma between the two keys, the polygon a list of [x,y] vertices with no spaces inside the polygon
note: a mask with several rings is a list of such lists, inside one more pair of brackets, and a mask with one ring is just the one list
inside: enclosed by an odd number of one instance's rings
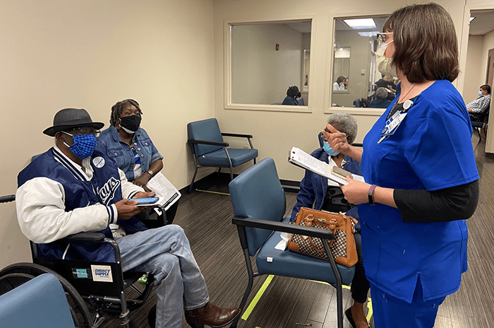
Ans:
{"label": "black fedora hat on man in wheelchair", "polygon": [[104,127],[104,123],[92,122],[89,113],[84,109],[65,108],[64,110],[59,110],[59,112],[55,114],[55,117],[53,118],[53,127],[49,127],[44,130],[43,133],[49,136],[55,136],[56,132],[76,127],[94,127],[95,129],[101,129]]}

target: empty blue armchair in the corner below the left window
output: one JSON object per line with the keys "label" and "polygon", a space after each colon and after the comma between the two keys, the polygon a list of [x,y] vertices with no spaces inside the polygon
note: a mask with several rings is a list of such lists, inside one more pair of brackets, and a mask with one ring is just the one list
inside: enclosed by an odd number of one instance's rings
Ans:
{"label": "empty blue armchair in the corner below the left window", "polygon": [[[218,168],[218,172],[222,168],[230,168],[230,180],[233,180],[233,168],[247,163],[249,160],[254,160],[255,164],[255,158],[258,157],[258,150],[252,146],[251,139],[253,136],[251,134],[222,133],[215,118],[187,124],[187,134],[187,144],[191,146],[195,163],[195,172],[188,189],[189,193],[192,191],[198,168],[213,167]],[[227,148],[229,144],[223,141],[223,136],[246,138],[251,148]]]}

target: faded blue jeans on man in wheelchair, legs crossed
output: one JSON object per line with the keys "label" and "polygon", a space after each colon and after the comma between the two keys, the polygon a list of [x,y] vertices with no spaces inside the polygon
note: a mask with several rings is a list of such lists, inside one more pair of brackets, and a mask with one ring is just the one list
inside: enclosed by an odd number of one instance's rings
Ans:
{"label": "faded blue jeans on man in wheelchair, legs crossed", "polygon": [[183,310],[209,301],[206,283],[179,225],[165,225],[116,240],[123,271],[146,271],[157,285],[157,328],[180,328]]}

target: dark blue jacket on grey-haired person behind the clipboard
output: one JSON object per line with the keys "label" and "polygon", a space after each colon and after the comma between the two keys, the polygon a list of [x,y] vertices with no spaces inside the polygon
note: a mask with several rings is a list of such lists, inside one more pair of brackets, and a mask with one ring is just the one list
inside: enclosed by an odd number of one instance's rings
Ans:
{"label": "dark blue jacket on grey-haired person behind the clipboard", "polygon": [[[329,163],[329,157],[323,148],[318,148],[311,153],[311,156],[317,158],[318,160],[323,160]],[[360,168],[360,163],[349,156],[345,156],[344,160],[347,162],[343,165],[343,168],[353,174],[362,175]],[[291,222],[295,222],[296,213],[299,213],[301,207],[308,207],[320,210],[323,206],[324,197],[326,197],[327,192],[327,178],[321,175],[317,175],[310,170],[306,170],[306,175],[300,182],[300,191],[296,195],[297,203],[294,206],[293,211],[291,211]],[[354,210],[355,209],[355,210]],[[356,207],[348,213],[349,216],[358,217]]]}

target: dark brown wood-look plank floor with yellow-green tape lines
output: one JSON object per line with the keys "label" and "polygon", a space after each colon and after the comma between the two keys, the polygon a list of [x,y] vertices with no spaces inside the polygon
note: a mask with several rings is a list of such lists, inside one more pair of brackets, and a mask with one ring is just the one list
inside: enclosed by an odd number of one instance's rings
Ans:
{"label": "dark brown wood-look plank floor with yellow-green tape lines", "polygon": [[[472,137],[480,174],[480,199],[469,225],[469,271],[462,276],[459,291],[440,306],[435,328],[494,328],[493,218],[494,158],[483,151],[485,143]],[[284,165],[284,164],[279,164]],[[195,189],[227,193],[228,180],[222,177]],[[296,203],[296,194],[287,192],[287,213]],[[197,192],[183,194],[174,223],[181,225],[191,242],[195,259],[205,277],[210,298],[219,306],[238,306],[246,288],[247,274],[227,194]],[[255,279],[248,304],[265,282]],[[344,309],[352,303],[344,289]],[[239,321],[240,328],[329,328],[336,327],[335,289],[323,283],[275,276],[251,315]],[[153,292],[148,303],[131,313],[132,327],[148,327],[147,312],[156,302]],[[373,320],[370,320],[373,327]],[[118,327],[118,317],[107,316],[102,327]],[[183,320],[182,327],[188,327]],[[344,320],[344,328],[350,327]]]}

